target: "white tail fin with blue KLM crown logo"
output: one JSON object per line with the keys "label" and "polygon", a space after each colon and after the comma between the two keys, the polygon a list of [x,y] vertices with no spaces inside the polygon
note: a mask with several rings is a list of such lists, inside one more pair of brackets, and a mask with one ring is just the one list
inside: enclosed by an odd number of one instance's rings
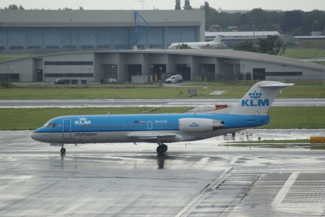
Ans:
{"label": "white tail fin with blue KLM crown logo", "polygon": [[281,88],[292,85],[275,81],[258,82],[234,107],[218,110],[214,114],[266,115]]}

